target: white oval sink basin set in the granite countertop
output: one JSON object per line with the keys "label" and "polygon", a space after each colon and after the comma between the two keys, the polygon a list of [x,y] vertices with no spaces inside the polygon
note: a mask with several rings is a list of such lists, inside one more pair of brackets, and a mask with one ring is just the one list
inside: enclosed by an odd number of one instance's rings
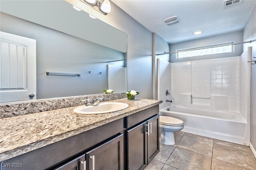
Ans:
{"label": "white oval sink basin set in the granite countertop", "polygon": [[109,113],[113,111],[119,111],[126,109],[129,105],[119,102],[104,102],[96,106],[79,106],[76,107],[73,111],[75,113],[81,114],[100,114],[100,113]]}

